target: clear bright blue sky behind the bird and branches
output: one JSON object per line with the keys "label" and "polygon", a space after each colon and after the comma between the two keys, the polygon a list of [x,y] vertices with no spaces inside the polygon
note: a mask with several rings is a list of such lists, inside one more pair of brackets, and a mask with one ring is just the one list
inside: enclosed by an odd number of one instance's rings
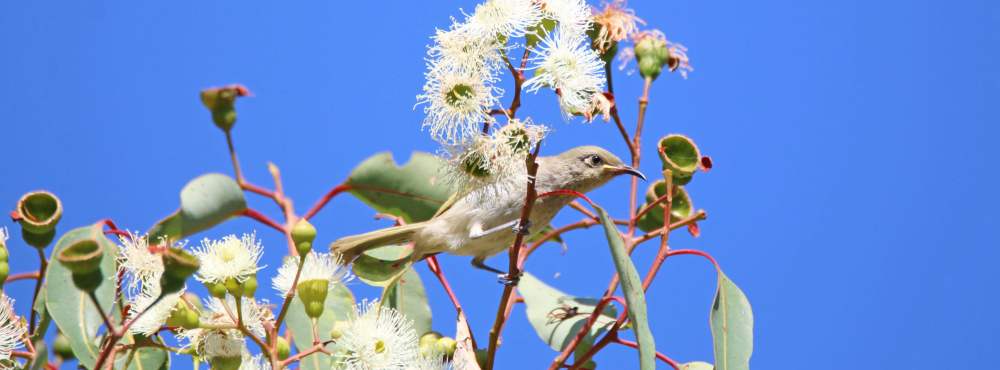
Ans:
{"label": "clear bright blue sky behind the bird and branches", "polygon": [[[995,1],[634,0],[650,27],[687,45],[687,80],[653,86],[646,142],[684,133],[715,160],[689,186],[708,211],[698,248],[719,260],[750,298],[757,369],[983,368],[1000,340],[995,310],[1000,259],[1000,5]],[[405,161],[434,151],[413,109],[428,36],[470,1],[0,3],[0,204],[45,188],[65,205],[60,230],[110,217],[145,230],[177,206],[180,188],[206,172],[230,173],[222,134],[198,100],[209,86],[242,83],[236,146],[249,179],[269,184],[278,164],[304,212],[366,157]],[[634,125],[638,76],[615,76]],[[509,97],[505,99],[508,101]],[[613,124],[566,122],[551,93],[520,114],[554,129],[543,153],[581,144],[627,156]],[[630,129],[631,130],[631,129]],[[651,146],[642,169],[658,173]],[[627,181],[592,196],[618,216]],[[275,218],[274,205],[250,196]],[[384,226],[337,198],[316,219],[322,248]],[[556,224],[579,218],[564,212]],[[12,231],[18,227],[0,220]],[[280,235],[234,220],[193,236],[260,229],[273,276]],[[678,234],[680,235],[680,234]],[[614,271],[603,233],[577,232],[527,269],[572,294],[599,295]],[[12,272],[35,268],[11,241]],[[644,271],[654,246],[635,255]],[[501,286],[467,258],[443,257],[479,338]],[[505,259],[491,260],[505,265]],[[434,327],[453,333],[453,310],[419,267]],[[556,277],[558,274],[558,277]],[[277,300],[262,280],[260,295]],[[667,261],[649,294],[658,349],[680,361],[712,360],[711,265]],[[27,312],[30,287],[8,294]],[[377,292],[361,283],[359,296]],[[556,355],[523,307],[505,330],[499,368],[548,364]],[[627,348],[597,358],[636,367]],[[186,368],[187,361],[174,363]],[[534,367],[534,365],[525,365]],[[538,365],[542,366],[542,365]]]}

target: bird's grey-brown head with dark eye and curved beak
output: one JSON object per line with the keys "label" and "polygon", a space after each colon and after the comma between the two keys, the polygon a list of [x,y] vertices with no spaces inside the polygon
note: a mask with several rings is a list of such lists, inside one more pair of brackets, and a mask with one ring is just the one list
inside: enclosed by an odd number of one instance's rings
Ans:
{"label": "bird's grey-brown head with dark eye and curved beak", "polygon": [[[545,166],[549,164],[543,165],[543,168]],[[592,145],[576,147],[555,156],[551,166],[554,174],[565,175],[560,176],[566,179],[561,184],[563,188],[581,192],[593,190],[621,174],[646,179],[642,172],[629,167],[618,156]]]}

